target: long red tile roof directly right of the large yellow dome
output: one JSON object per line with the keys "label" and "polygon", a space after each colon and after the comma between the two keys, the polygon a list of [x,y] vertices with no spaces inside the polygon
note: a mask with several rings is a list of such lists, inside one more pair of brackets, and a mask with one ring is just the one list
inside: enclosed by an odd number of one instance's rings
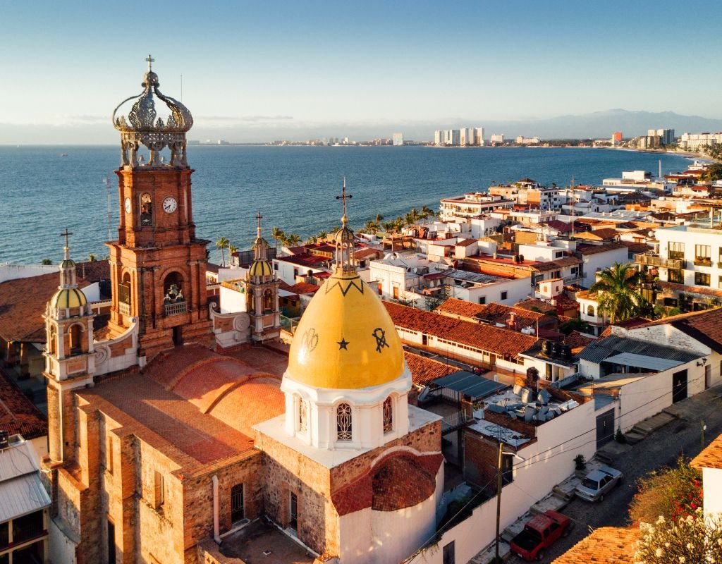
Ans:
{"label": "long red tile roof directly right of the large yellow dome", "polygon": [[406,307],[396,303],[384,302],[393,324],[403,329],[419,331],[441,339],[469,345],[495,355],[514,357],[531,348],[536,337],[500,329],[486,324],[454,319],[447,316]]}

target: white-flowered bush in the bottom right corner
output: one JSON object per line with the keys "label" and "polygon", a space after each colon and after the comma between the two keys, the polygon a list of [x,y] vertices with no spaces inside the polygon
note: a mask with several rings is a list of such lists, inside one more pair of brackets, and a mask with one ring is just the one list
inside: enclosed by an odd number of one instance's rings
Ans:
{"label": "white-flowered bush in the bottom right corner", "polygon": [[706,516],[702,508],[669,521],[640,523],[635,564],[722,563],[722,521]]}

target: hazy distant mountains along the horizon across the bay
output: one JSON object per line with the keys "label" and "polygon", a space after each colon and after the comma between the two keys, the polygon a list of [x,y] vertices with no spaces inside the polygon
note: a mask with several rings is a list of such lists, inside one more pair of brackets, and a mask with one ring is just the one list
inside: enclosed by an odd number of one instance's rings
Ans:
{"label": "hazy distant mountains along the horizon across the bay", "polygon": [[[100,119],[100,118],[99,118]],[[108,144],[118,139],[110,124],[69,123],[68,125],[17,125],[0,123],[0,144]],[[484,127],[487,139],[494,133],[503,133],[507,139],[517,135],[538,136],[541,139],[604,138],[613,131],[622,131],[625,137],[646,134],[648,129],[674,129],[677,136],[684,132],[722,131],[722,119],[700,116],[682,116],[674,112],[644,112],[606,110],[580,116],[523,120],[484,120],[446,118],[439,120],[384,121],[365,120],[348,122],[308,122],[290,116],[250,120],[248,118],[204,118],[196,116],[191,139],[226,139],[235,143],[270,142],[274,139],[305,141],[323,137],[349,137],[352,140],[390,138],[403,132],[406,139],[430,141],[436,129]]]}

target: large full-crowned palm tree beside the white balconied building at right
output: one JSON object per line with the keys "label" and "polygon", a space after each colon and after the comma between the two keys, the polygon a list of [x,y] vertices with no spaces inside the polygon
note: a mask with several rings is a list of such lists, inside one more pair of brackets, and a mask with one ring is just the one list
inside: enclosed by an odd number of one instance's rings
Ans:
{"label": "large full-crowned palm tree beside the white balconied building at right", "polygon": [[634,266],[615,262],[596,276],[589,293],[596,293],[599,310],[609,315],[609,321],[617,323],[638,315],[645,301],[638,290],[642,274]]}

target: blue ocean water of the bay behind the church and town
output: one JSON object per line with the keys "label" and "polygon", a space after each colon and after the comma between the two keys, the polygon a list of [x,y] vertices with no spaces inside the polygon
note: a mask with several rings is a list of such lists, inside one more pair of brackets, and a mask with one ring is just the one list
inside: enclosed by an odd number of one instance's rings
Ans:
{"label": "blue ocean water of the bay behind the church and town", "polygon": [[[66,155],[66,156],[61,156]],[[188,147],[193,174],[193,218],[199,237],[226,236],[250,248],[256,211],[266,238],[279,226],[306,237],[339,225],[334,196],[347,178],[349,223],[362,225],[376,214],[403,215],[412,207],[438,209],[439,199],[484,191],[492,181],[529,177],[567,186],[601,183],[622,170],[656,174],[684,170],[679,155],[610,149],[529,147]],[[108,212],[103,178],[111,183],[111,238],[117,235],[120,150],[103,147],[0,147],[0,263],[61,259],[60,233],[68,227],[73,256],[108,254]],[[212,260],[219,252],[209,246]]]}

